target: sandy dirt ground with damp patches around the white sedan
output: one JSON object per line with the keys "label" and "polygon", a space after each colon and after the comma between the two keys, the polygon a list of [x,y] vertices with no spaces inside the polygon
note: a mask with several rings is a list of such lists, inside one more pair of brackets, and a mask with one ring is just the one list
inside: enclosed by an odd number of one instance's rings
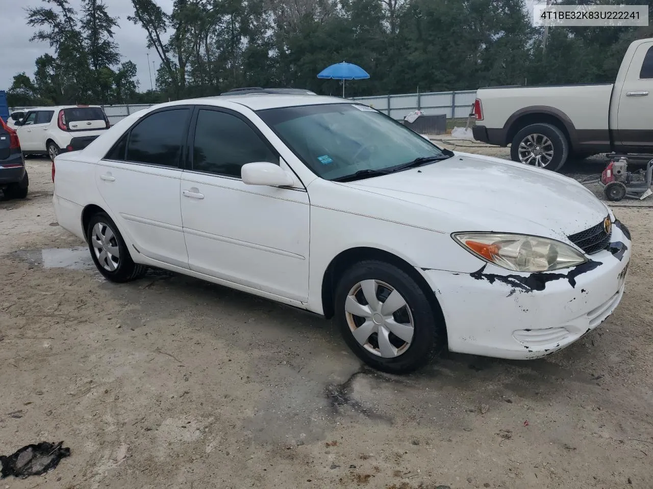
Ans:
{"label": "sandy dirt ground with damp patches around the white sedan", "polygon": [[0,201],[0,453],[72,453],[0,488],[653,487],[650,208],[615,209],[626,295],[581,341],[391,377],[324,319],[173,274],[102,280],[57,226],[49,162],[27,163],[27,200]]}

